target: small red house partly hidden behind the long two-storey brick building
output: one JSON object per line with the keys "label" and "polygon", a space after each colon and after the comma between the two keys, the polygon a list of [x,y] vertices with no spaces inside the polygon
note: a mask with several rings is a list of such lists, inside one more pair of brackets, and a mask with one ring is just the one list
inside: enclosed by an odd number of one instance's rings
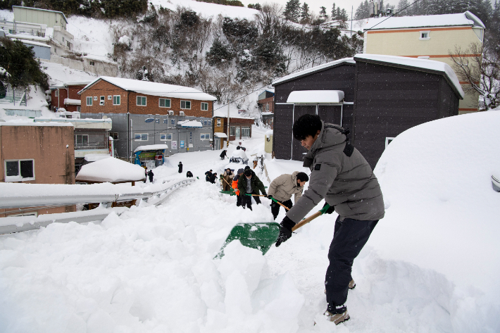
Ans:
{"label": "small red house partly hidden behind the long two-storey brick building", "polygon": [[51,110],[65,108],[68,112],[80,112],[82,103],[78,92],[89,83],[90,81],[64,82],[51,86]]}

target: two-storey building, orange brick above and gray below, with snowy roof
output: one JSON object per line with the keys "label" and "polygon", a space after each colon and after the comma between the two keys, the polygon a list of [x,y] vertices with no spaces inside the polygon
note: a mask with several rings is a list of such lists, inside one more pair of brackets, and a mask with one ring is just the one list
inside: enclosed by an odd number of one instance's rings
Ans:
{"label": "two-storey building, orange brick above and gray below, with snowy roof", "polygon": [[118,77],[98,77],[79,92],[82,118],[111,118],[120,158],[138,146],[167,144],[165,154],[212,149],[214,96],[197,89]]}

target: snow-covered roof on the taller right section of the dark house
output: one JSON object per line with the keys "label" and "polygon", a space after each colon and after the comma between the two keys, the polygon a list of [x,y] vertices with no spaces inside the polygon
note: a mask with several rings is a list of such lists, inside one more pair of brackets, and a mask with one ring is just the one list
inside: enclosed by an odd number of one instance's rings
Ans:
{"label": "snow-covered roof on the taller right section of the dark house", "polygon": [[448,64],[442,63],[441,61],[408,58],[406,56],[382,56],[380,54],[356,54],[354,60],[368,63],[387,63],[387,65],[392,65],[393,67],[409,68],[412,70],[444,75],[451,88],[460,96],[460,99],[463,99],[464,93],[454,70],[451,69]]}

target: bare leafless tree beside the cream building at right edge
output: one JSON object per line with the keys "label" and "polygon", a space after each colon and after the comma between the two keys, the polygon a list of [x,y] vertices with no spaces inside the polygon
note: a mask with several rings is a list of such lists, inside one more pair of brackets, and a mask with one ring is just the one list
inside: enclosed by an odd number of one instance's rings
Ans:
{"label": "bare leafless tree beside the cream building at right edge", "polygon": [[485,40],[485,44],[473,43],[465,50],[456,46],[454,52],[449,51],[458,80],[470,85],[465,87],[465,93],[479,93],[485,102],[484,110],[500,106],[500,56],[487,50]]}

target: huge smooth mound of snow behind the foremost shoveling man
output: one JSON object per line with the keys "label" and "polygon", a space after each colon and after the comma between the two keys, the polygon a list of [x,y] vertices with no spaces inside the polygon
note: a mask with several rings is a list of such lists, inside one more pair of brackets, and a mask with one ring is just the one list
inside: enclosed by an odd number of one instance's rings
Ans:
{"label": "huge smooth mound of snow behind the foremost shoveling man", "polygon": [[500,310],[500,196],[491,182],[500,175],[499,121],[500,111],[489,111],[413,127],[375,168],[387,211],[371,245],[455,284],[449,310],[461,332],[500,327],[491,316]]}

